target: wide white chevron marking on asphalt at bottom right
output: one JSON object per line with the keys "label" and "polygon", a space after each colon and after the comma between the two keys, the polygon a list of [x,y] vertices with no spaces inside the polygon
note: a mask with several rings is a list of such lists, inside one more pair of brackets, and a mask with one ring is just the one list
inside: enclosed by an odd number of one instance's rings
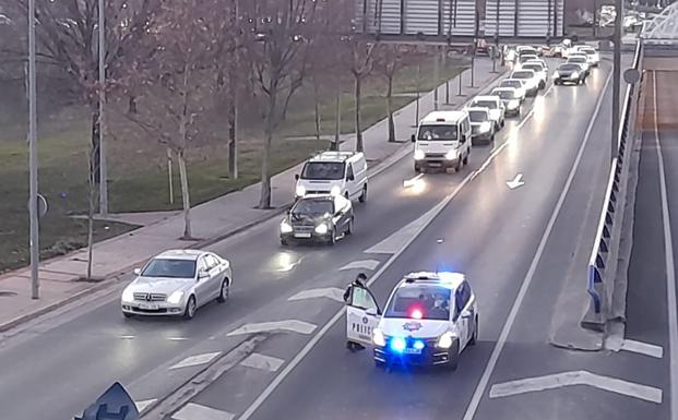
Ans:
{"label": "wide white chevron marking on asphalt at bottom right", "polygon": [[662,404],[662,389],[659,388],[622,381],[616,377],[602,376],[586,371],[563,372],[495,384],[490,388],[489,397],[501,398],[573,385],[588,385],[610,393]]}

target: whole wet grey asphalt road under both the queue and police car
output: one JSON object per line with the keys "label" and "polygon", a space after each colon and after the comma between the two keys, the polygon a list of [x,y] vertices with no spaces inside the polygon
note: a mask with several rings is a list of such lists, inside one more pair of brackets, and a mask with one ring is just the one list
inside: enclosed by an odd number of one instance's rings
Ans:
{"label": "whole wet grey asphalt road under both the queue and police car", "polygon": [[[599,208],[606,177],[602,163],[607,161],[602,156],[608,153],[606,141],[599,139],[607,139],[610,125],[607,103],[602,101],[597,120],[591,123],[591,118],[608,73],[604,62],[585,86],[549,86],[546,94],[525,104],[520,119],[508,120],[493,146],[474,147],[471,165],[461,173],[426,175],[416,187],[404,188],[414,172],[411,156],[401,159],[370,180],[369,202],[356,204],[356,235],[334,248],[281,248],[278,219],[211,247],[233,261],[234,290],[226,304],[204,308],[190,323],[124,321],[114,290],[5,338],[0,341],[2,418],[44,420],[49,413],[50,419],[69,419],[112,381],[128,386],[138,400],[162,397],[200,369],[170,369],[173,364],[187,356],[227,351],[245,338],[228,333],[246,323],[298,320],[320,329],[341,304],[326,298],[288,298],[314,288],[342,288],[358,271],[369,272],[342,268],[365,261],[372,264],[372,273],[381,272],[374,292],[382,302],[409,271],[449,268],[468,275],[479,298],[480,343],[463,355],[457,372],[376,370],[368,355],[346,352],[345,325],[340,320],[269,398],[260,398],[258,410],[251,410],[251,404],[270,386],[275,372],[241,365],[194,403],[257,419],[278,418],[281,412],[309,420],[461,419],[492,364],[488,364],[490,353],[508,320],[514,325],[508,328],[496,367],[486,375],[487,386],[479,389],[475,418],[537,419],[545,409],[555,412],[555,419],[609,418],[591,417],[598,405],[610,409],[617,405],[621,418],[641,418],[650,403],[618,401],[622,397],[599,389],[556,389],[547,398],[538,393],[498,399],[487,395],[498,382],[594,370],[600,364],[599,374],[617,369],[617,361],[600,363],[600,356],[562,356],[570,353],[552,349],[546,338],[560,293],[559,274],[579,263],[576,244],[586,242]],[[570,177],[587,131],[588,142]],[[518,173],[525,184],[510,190],[505,182]],[[570,192],[563,195],[566,187]],[[450,204],[425,227],[428,219],[421,215],[432,217],[431,208],[451,195]],[[530,287],[521,292],[527,283]],[[257,351],[289,361],[307,336],[275,334]],[[555,351],[562,352],[554,356]],[[640,372],[639,379],[628,380],[643,382],[644,375]]]}

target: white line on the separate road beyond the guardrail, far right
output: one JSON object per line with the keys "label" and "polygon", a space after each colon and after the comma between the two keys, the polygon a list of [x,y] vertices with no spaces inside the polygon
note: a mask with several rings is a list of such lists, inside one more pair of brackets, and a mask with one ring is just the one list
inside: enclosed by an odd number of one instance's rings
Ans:
{"label": "white line on the separate road beyond the guardrail, far right", "polygon": [[659,193],[662,195],[662,221],[664,224],[664,260],[666,261],[666,300],[668,304],[668,337],[671,407],[670,418],[678,416],[678,312],[676,311],[676,264],[674,263],[674,241],[671,238],[671,221],[668,212],[668,193],[666,190],[666,172],[664,171],[664,155],[659,140],[657,122],[657,73],[652,72],[654,92],[654,140],[657,145],[659,166]]}

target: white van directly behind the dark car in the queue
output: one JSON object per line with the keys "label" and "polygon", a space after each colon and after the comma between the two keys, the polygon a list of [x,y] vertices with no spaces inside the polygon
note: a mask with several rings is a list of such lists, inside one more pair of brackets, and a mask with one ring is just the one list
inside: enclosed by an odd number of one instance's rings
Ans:
{"label": "white van directly behind the dark car in the queue", "polygon": [[323,152],[307,160],[295,178],[297,199],[331,194],[360,203],[367,200],[367,160],[360,152]]}

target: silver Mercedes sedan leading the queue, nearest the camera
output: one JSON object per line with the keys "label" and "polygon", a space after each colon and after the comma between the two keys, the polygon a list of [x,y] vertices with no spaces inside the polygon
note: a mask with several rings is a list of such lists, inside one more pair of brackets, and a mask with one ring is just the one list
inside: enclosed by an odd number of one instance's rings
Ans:
{"label": "silver Mercedes sedan leading the queue, nearest the camera", "polygon": [[230,263],[200,250],[170,250],[154,256],[122,291],[126,317],[175,315],[187,320],[213,300],[223,303],[233,284]]}

